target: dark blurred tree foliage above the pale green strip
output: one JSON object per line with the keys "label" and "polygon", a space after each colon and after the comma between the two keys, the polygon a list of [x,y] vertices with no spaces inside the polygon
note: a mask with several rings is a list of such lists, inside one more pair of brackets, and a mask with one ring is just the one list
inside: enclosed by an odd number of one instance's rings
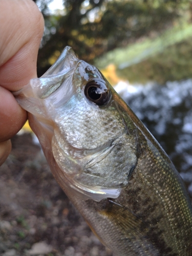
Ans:
{"label": "dark blurred tree foliage above the pale green strip", "polygon": [[166,29],[190,4],[186,0],[66,0],[63,14],[51,15],[47,8],[50,1],[36,2],[40,3],[46,24],[38,58],[39,75],[67,45],[79,58],[93,62],[110,50]]}

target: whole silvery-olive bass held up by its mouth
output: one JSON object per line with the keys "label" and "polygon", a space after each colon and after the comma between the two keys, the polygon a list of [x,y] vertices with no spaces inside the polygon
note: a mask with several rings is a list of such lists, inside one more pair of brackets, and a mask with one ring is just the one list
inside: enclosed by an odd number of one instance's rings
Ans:
{"label": "whole silvery-olive bass held up by its mouth", "polygon": [[192,208],[179,173],[96,67],[66,47],[14,96],[54,178],[114,255],[192,255]]}

